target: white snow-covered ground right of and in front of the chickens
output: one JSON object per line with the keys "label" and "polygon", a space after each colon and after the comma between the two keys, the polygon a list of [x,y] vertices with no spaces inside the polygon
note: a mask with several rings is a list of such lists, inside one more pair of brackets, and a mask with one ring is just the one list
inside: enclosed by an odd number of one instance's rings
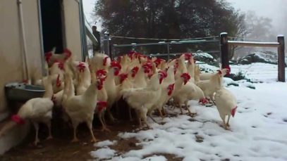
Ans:
{"label": "white snow-covered ground right of and in front of the chickens", "polygon": [[[163,124],[148,120],[152,129],[118,134],[119,139],[137,139],[138,146],[142,146],[140,150],[117,153],[109,148],[117,141],[104,141],[95,145],[91,155],[107,160],[167,160],[162,154],[188,161],[287,160],[287,83],[275,81],[276,65],[273,71],[270,70],[272,66],[262,63],[251,67],[231,66],[233,72],[246,70],[249,78],[263,82],[253,84],[255,89],[246,87],[245,82],[237,82],[239,86],[226,86],[238,100],[238,110],[230,122],[231,130],[221,127],[216,106],[206,107],[190,101],[190,110],[197,112],[195,117],[157,118]],[[267,69],[270,71],[265,75]],[[169,114],[180,113],[178,109],[167,110]]]}

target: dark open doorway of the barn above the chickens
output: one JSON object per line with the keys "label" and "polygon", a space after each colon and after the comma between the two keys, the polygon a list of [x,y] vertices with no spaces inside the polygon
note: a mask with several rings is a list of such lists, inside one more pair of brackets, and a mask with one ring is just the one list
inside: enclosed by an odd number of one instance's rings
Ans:
{"label": "dark open doorway of the barn above the chickens", "polygon": [[44,52],[56,47],[56,53],[63,52],[62,0],[40,0]]}

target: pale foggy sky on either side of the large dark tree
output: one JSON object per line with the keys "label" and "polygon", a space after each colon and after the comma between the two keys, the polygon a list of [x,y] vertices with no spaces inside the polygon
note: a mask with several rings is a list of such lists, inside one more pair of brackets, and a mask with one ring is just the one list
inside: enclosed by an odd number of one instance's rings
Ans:
{"label": "pale foggy sky on either side of the large dark tree", "polygon": [[[94,4],[97,0],[83,0],[83,7],[85,16],[90,22],[90,25],[96,25],[97,30],[101,31],[101,22],[97,20],[94,22],[93,9]],[[240,10],[243,13],[247,13],[246,17],[257,18],[258,20],[264,18],[270,18],[269,25],[262,27],[262,25],[253,25],[252,33],[248,34],[246,40],[262,40],[262,41],[276,41],[276,36],[279,34],[285,35],[287,47],[287,0],[226,0],[237,10]],[[252,11],[252,12],[250,12]],[[261,18],[262,17],[262,18]],[[264,17],[264,18],[263,18]],[[260,19],[261,18],[261,19]],[[252,22],[247,21],[247,27],[250,28]],[[265,30],[264,30],[265,28]],[[266,32],[266,28],[269,29]],[[224,32],[224,31],[223,31]],[[243,48],[239,49],[236,53],[236,57],[242,57],[252,51],[274,51],[275,48]],[[286,50],[287,51],[287,50]]]}

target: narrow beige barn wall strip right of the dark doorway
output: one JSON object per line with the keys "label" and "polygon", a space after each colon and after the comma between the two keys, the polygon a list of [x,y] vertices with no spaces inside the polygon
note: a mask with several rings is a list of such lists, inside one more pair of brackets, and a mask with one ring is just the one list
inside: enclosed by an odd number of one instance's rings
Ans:
{"label": "narrow beige barn wall strip right of the dark doorway", "polygon": [[66,30],[66,46],[75,56],[75,60],[83,60],[80,41],[79,3],[76,0],[63,1]]}

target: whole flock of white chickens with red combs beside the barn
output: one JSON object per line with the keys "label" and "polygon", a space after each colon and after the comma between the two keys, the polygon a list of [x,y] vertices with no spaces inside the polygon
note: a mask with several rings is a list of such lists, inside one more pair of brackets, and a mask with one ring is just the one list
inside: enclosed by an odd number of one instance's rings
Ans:
{"label": "whole flock of white chickens with red combs beside the barn", "polygon": [[99,117],[102,130],[109,131],[105,115],[115,120],[111,108],[121,98],[128,103],[130,117],[130,110],[137,114],[140,127],[144,122],[149,128],[147,116],[152,118],[154,110],[161,117],[169,115],[164,110],[166,103],[180,108],[182,114],[183,110],[188,110],[191,116],[196,112],[192,108],[190,111],[188,101],[196,100],[202,105],[214,103],[226,129],[230,117],[236,113],[236,97],[222,85],[222,77],[228,75],[230,69],[220,67],[214,73],[200,73],[191,53],[168,61],[148,58],[135,51],[115,60],[96,53],[93,58],[80,62],[73,60],[71,51],[65,49],[62,54],[46,53],[45,58],[48,75],[35,82],[44,86],[44,96],[27,101],[0,135],[16,124],[30,121],[35,126],[35,145],[39,142],[40,122],[49,127],[51,139],[52,108],[55,106],[63,110],[63,120],[73,126],[72,141],[78,141],[76,131],[82,122],[90,129],[92,141],[97,141],[92,131],[94,116]]}

